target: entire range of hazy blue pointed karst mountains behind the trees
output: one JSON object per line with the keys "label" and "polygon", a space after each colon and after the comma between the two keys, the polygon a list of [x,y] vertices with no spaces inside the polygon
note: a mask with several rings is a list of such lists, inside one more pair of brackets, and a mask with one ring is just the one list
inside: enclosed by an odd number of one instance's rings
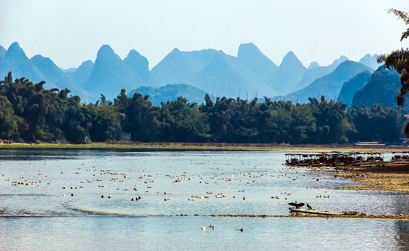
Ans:
{"label": "entire range of hazy blue pointed karst mountains behind the trees", "polygon": [[341,56],[328,66],[312,62],[307,68],[293,52],[288,52],[280,65],[276,65],[255,44],[245,43],[240,45],[237,57],[213,49],[184,52],[175,48],[149,70],[148,60],[137,51],[131,50],[121,59],[105,44],[94,63],[87,60],[78,68],[64,70],[41,55],[29,59],[17,42],[7,50],[0,47],[0,74],[3,76],[11,71],[13,77],[25,77],[33,82],[45,80],[44,87],[69,88],[84,102],[95,102],[100,94],[112,100],[121,88],[128,90],[129,96],[134,89],[145,92],[144,95],[149,93],[151,100],[154,95],[176,99],[166,92],[179,96],[183,93],[193,102],[203,93],[233,98],[285,97],[300,101],[320,93],[335,98],[345,81],[364,70],[372,72],[377,66],[376,55],[367,54],[359,62]]}

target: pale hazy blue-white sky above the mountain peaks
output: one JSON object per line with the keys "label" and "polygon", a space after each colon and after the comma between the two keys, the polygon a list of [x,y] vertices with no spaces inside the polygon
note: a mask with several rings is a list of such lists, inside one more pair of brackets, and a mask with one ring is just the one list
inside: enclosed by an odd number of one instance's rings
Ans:
{"label": "pale hazy blue-white sky above the mountain peaks", "polygon": [[308,67],[340,55],[359,60],[370,53],[409,47],[400,42],[404,22],[388,8],[409,11],[408,0],[320,1],[21,1],[1,0],[0,45],[17,41],[31,58],[51,58],[63,68],[95,61],[103,44],[123,59],[131,49],[161,61],[173,48],[213,48],[237,56],[253,42],[280,64],[293,51]]}

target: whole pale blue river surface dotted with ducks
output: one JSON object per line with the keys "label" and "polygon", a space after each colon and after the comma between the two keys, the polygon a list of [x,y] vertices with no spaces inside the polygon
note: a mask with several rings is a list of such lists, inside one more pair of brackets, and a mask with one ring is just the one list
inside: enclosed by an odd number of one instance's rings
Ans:
{"label": "whole pale blue river surface dotted with ducks", "polygon": [[257,151],[1,150],[0,249],[409,249],[404,220],[201,216],[288,216],[296,200],[409,214],[406,193],[335,190],[351,182],[284,160]]}

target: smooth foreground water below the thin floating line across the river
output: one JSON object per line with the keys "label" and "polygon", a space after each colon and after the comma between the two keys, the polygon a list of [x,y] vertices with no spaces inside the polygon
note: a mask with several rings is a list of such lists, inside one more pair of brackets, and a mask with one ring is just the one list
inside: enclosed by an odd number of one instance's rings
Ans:
{"label": "smooth foreground water below the thin floating line across the river", "polygon": [[[407,250],[407,241],[393,238],[402,231],[395,222],[403,221],[194,216],[0,218],[0,249]],[[201,230],[210,224],[216,228]]]}

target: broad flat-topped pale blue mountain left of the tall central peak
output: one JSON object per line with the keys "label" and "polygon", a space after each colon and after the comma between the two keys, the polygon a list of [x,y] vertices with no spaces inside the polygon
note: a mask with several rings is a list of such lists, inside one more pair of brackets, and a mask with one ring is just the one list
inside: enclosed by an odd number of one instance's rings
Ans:
{"label": "broad flat-topped pale blue mountain left of the tall central peak", "polygon": [[[255,46],[247,47],[240,52],[248,54],[256,49]],[[258,49],[255,53],[257,52]],[[260,60],[260,54],[258,56],[255,61]],[[263,59],[265,58],[261,60]],[[152,68],[151,76],[152,85],[155,87],[167,83],[188,83],[216,96],[250,96],[257,91],[267,96],[277,94],[277,91],[262,81],[253,70],[254,68],[242,64],[237,57],[226,55],[222,51],[208,49],[181,52],[174,49]]]}

